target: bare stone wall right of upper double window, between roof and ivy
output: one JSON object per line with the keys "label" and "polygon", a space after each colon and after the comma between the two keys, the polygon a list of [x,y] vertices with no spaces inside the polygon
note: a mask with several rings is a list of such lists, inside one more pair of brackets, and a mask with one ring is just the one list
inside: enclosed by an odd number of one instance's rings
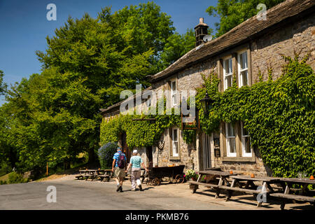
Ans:
{"label": "bare stone wall right of upper double window, between roof and ivy", "polygon": [[268,67],[273,69],[273,79],[281,76],[285,64],[281,55],[294,57],[293,50],[301,56],[310,53],[308,64],[315,71],[315,15],[309,15],[286,27],[269,31],[267,34],[251,41],[251,63],[253,83],[258,80],[258,68],[267,80]]}

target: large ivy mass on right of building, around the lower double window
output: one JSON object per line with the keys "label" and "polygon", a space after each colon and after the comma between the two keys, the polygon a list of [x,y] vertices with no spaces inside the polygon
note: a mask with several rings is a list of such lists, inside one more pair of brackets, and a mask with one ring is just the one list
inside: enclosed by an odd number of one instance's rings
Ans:
{"label": "large ivy mass on right of building, around the lower double window", "polygon": [[[196,97],[200,123],[211,134],[221,121],[241,120],[252,146],[258,147],[274,176],[296,177],[298,172],[310,176],[315,173],[315,75],[306,64],[307,57],[301,61],[297,54],[293,59],[283,58],[288,64],[275,81],[268,69],[267,82],[218,92],[218,80],[214,76],[205,79]],[[203,115],[199,102],[206,90],[214,99],[209,116]]]}

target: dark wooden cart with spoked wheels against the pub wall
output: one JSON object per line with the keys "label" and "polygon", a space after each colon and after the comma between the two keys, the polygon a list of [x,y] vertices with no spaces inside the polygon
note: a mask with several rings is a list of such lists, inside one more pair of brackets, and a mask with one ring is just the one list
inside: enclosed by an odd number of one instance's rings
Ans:
{"label": "dark wooden cart with spoked wheels against the pub wall", "polygon": [[183,169],[185,165],[174,167],[152,167],[148,174],[144,177],[147,185],[158,186],[162,182],[162,178],[168,177],[172,183],[184,183]]}

